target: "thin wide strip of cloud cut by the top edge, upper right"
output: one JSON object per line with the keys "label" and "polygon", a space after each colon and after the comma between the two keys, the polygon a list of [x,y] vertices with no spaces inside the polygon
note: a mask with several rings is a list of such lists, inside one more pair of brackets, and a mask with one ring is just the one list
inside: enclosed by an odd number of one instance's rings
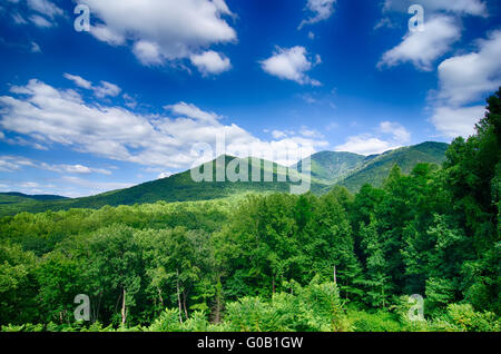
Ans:
{"label": "thin wide strip of cloud cut by the top edge, upper right", "polygon": [[485,2],[481,0],[385,0],[384,11],[406,12],[413,3],[424,8],[425,13],[444,11],[456,14],[487,16]]}

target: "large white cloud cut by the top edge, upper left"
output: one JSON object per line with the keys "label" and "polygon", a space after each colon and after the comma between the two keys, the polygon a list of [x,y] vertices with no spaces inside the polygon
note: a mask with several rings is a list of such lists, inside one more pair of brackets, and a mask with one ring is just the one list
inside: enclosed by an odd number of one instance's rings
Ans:
{"label": "large white cloud cut by the top edge, upper left", "polygon": [[190,58],[218,43],[234,42],[233,17],[224,0],[80,0],[102,23],[90,33],[107,43],[132,45],[147,66]]}

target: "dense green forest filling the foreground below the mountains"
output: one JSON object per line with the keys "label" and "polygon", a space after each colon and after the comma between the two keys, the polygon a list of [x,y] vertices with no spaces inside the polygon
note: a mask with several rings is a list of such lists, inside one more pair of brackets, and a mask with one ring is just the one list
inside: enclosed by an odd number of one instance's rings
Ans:
{"label": "dense green forest filling the foreground below the mountains", "polygon": [[[355,195],[4,216],[1,328],[500,331],[500,95],[442,166],[394,165]],[[75,321],[78,294],[89,322]]]}

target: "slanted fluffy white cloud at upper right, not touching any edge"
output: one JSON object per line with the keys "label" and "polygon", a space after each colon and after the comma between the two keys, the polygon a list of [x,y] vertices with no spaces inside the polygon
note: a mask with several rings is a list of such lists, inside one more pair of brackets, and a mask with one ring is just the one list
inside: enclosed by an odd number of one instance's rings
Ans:
{"label": "slanted fluffy white cloud at upper right, not touching any edge", "polygon": [[461,29],[451,17],[438,16],[424,23],[423,31],[407,32],[402,42],[386,51],[377,67],[411,62],[418,69],[432,70],[433,62],[461,38]]}

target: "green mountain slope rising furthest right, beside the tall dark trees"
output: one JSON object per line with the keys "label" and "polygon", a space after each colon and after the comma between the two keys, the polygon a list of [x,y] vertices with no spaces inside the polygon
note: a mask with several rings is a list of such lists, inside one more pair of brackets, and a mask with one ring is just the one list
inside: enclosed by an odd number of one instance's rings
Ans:
{"label": "green mountain slope rising furthest right, beside the tall dark trees", "polygon": [[400,166],[404,174],[410,174],[414,166],[420,163],[441,165],[445,160],[448,148],[448,144],[428,141],[386,151],[382,155],[367,156],[362,165],[352,170],[340,185],[352,193],[356,193],[365,184],[381,187],[395,164]]}

